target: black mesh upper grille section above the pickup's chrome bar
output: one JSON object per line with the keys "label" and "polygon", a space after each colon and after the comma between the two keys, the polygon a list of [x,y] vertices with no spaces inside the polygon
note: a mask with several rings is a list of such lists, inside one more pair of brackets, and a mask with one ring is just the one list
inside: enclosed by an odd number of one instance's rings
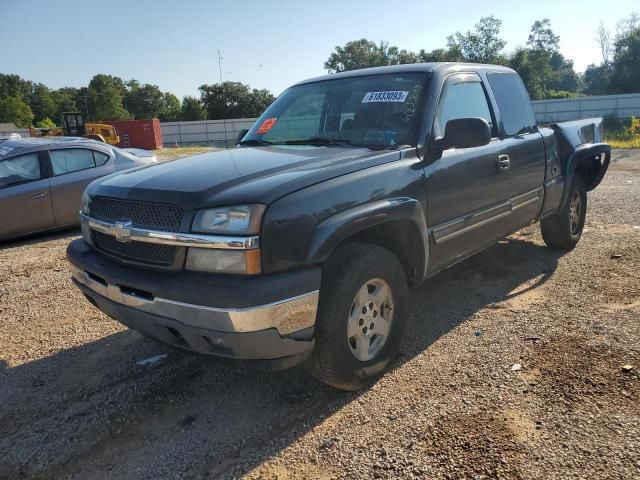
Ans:
{"label": "black mesh upper grille section above the pickup's chrome bar", "polygon": [[95,197],[91,201],[91,216],[108,222],[123,219],[140,228],[176,232],[180,229],[184,210],[177,205],[139,202],[119,198]]}

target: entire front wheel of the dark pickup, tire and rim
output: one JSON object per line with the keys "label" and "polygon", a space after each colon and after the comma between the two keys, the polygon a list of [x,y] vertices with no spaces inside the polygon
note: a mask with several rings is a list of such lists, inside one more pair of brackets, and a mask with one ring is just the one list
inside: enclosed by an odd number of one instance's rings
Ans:
{"label": "entire front wheel of the dark pickup, tire and rim", "polygon": [[398,351],[408,296],[404,269],[391,252],[363,243],[340,247],[323,267],[309,373],[341,390],[366,385]]}

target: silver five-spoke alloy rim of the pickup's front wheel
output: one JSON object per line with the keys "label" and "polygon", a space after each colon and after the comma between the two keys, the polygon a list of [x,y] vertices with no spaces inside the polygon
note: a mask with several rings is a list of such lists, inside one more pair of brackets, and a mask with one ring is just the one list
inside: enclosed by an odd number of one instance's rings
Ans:
{"label": "silver five-spoke alloy rim of the pickup's front wheel", "polygon": [[356,293],[347,319],[347,343],[355,358],[374,358],[389,338],[393,321],[393,292],[381,278],[373,278]]}

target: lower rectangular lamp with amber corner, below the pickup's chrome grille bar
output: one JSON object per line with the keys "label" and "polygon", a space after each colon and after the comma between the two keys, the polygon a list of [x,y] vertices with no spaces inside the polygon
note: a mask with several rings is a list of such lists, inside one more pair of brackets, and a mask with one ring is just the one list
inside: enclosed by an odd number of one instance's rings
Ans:
{"label": "lower rectangular lamp with amber corner, below the pickup's chrome grille bar", "polygon": [[220,273],[260,273],[260,250],[215,250],[190,248],[187,253],[188,270]]}

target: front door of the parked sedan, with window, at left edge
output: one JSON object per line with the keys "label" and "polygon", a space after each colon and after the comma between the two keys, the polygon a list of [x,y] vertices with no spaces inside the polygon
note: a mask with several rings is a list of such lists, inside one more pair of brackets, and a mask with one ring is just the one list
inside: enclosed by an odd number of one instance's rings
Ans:
{"label": "front door of the parked sedan, with window, at left edge", "polygon": [[0,160],[0,238],[55,226],[44,165],[38,152]]}

